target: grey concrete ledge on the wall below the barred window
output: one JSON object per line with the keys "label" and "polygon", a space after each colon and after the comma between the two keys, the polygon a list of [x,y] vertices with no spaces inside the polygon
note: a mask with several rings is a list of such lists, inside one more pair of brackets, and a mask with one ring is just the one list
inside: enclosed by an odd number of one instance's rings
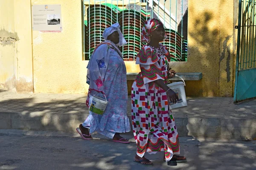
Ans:
{"label": "grey concrete ledge on the wall below the barred window", "polygon": [[[138,73],[127,73],[127,80],[134,80],[136,78],[136,76],[138,75]],[[180,77],[182,77],[184,80],[201,80],[203,78],[203,74],[199,73],[199,72],[195,72],[195,73],[177,73],[177,75],[179,75]],[[176,81],[176,80],[180,80],[180,78],[175,77],[172,78],[171,80]]]}

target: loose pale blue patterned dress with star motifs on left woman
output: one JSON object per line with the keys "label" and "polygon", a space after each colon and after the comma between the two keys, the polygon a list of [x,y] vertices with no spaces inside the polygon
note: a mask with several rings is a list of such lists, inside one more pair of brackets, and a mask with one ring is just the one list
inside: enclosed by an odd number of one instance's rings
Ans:
{"label": "loose pale blue patterned dress with star motifs on left woman", "polygon": [[[103,115],[89,111],[89,116],[82,125],[90,128],[90,133],[97,131],[111,139],[115,133],[129,132],[131,127],[127,116],[126,68],[121,52],[110,41],[106,41],[97,46],[90,62],[90,78],[87,79],[94,89],[89,89],[88,96],[103,98],[99,93],[102,92],[109,103]],[[92,97],[87,105],[90,105],[91,99]]]}

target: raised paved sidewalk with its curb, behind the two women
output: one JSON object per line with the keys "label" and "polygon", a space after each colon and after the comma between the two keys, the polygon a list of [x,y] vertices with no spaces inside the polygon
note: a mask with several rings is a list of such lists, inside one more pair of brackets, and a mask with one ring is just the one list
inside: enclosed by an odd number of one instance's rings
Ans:
{"label": "raised paved sidewalk with its curb, behind the two women", "polygon": [[[0,129],[75,132],[88,116],[83,94],[14,94],[0,92]],[[187,98],[188,107],[173,110],[180,136],[255,138],[256,100],[233,104],[233,98]],[[131,98],[127,114],[131,122]]]}

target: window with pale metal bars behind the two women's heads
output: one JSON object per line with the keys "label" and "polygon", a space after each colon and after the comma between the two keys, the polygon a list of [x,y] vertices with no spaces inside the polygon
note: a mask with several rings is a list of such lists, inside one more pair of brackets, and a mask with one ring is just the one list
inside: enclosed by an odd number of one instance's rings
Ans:
{"label": "window with pale metal bars behind the two women's heads", "polygon": [[119,23],[128,42],[120,50],[125,61],[135,61],[140,48],[141,31],[146,20],[157,18],[163,23],[172,61],[187,61],[188,0],[84,0],[84,59],[104,41],[102,33]]}

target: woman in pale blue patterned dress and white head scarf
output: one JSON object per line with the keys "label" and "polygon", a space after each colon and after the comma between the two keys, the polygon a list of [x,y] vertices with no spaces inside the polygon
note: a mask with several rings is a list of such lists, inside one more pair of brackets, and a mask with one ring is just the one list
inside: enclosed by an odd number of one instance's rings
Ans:
{"label": "woman in pale blue patterned dress and white head scarf", "polygon": [[89,111],[87,119],[76,129],[85,140],[93,139],[90,133],[97,131],[113,142],[130,143],[120,136],[120,133],[129,132],[131,127],[127,117],[126,68],[117,47],[125,45],[126,41],[119,27],[116,23],[105,29],[103,37],[106,41],[97,45],[87,66],[87,106],[91,96],[100,94],[105,94],[109,103],[103,115]]}

